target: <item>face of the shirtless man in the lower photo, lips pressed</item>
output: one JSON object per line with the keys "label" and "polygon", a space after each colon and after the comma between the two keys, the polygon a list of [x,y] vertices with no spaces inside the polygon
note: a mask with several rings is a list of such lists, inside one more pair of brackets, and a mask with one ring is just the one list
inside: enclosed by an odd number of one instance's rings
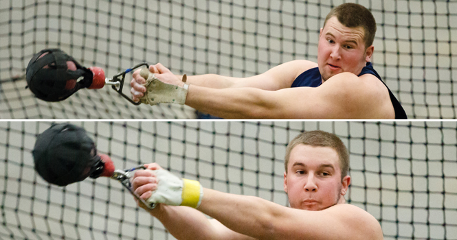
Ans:
{"label": "face of the shirtless man in the lower photo, lips pressed", "polygon": [[335,149],[299,144],[291,150],[284,190],[292,208],[320,211],[333,206],[346,194],[349,183],[349,176],[341,179]]}

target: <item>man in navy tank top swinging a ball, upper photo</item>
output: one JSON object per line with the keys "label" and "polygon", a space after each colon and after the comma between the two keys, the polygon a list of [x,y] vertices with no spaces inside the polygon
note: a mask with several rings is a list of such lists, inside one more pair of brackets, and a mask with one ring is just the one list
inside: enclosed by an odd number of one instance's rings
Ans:
{"label": "man in navy tank top swinging a ball, upper photo", "polygon": [[[331,10],[320,29],[317,63],[293,60],[245,78],[197,75],[186,84],[160,63],[149,71],[178,86],[181,104],[226,119],[405,119],[399,101],[372,69],[375,32],[369,10],[344,3]],[[136,71],[133,77],[133,100],[140,101],[148,93],[146,76]],[[158,102],[176,102],[179,95],[162,91],[149,98],[161,94],[173,101]]]}

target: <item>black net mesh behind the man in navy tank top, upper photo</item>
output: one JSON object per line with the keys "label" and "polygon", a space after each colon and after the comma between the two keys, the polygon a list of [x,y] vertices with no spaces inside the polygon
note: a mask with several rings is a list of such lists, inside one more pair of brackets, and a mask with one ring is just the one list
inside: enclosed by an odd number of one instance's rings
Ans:
{"label": "black net mesh behind the man in navy tank top, upper photo", "polygon": [[[25,67],[34,53],[57,47],[107,76],[143,61],[188,75],[256,75],[290,60],[316,61],[325,16],[344,2],[3,0],[0,118],[192,119],[191,108],[137,107],[108,88],[47,103],[25,89]],[[377,20],[372,62],[408,117],[456,119],[457,2],[355,2]]]}

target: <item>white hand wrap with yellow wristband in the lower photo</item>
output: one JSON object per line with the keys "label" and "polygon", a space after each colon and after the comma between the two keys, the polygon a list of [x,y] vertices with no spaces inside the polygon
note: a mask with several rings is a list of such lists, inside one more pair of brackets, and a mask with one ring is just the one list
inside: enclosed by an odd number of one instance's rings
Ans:
{"label": "white hand wrap with yellow wristband in the lower photo", "polygon": [[146,200],[148,204],[167,204],[172,206],[190,206],[198,208],[203,199],[203,187],[200,182],[178,178],[164,169],[153,171],[158,180],[157,189]]}

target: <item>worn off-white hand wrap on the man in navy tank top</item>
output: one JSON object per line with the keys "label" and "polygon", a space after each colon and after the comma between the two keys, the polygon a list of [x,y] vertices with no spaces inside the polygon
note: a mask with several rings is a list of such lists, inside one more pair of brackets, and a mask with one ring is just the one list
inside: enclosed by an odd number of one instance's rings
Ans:
{"label": "worn off-white hand wrap on the man in navy tank top", "polygon": [[154,73],[148,69],[142,69],[140,75],[146,79],[146,93],[140,98],[143,104],[185,104],[189,85],[184,84],[184,87],[167,84],[161,82]]}

